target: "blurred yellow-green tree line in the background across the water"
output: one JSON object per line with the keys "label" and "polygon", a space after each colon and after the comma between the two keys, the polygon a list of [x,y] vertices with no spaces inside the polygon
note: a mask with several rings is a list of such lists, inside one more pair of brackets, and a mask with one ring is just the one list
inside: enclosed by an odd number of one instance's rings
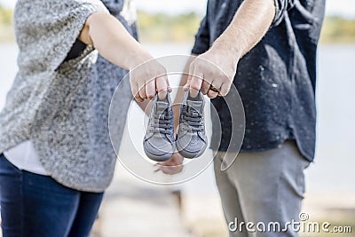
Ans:
{"label": "blurred yellow-green tree line in the background across the water", "polygon": [[[144,43],[191,43],[201,18],[194,12],[180,15],[138,12],[139,38]],[[12,10],[0,5],[0,42],[13,40]],[[320,42],[355,43],[355,20],[327,17]]]}

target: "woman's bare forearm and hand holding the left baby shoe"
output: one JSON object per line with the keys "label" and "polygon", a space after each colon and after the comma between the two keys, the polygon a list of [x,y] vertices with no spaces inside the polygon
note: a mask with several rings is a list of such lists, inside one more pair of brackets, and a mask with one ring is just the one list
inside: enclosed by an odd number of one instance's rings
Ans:
{"label": "woman's bare forearm and hand holding the left baby shoe", "polygon": [[105,12],[91,14],[79,39],[93,45],[105,59],[130,70],[131,90],[138,102],[153,99],[156,92],[163,99],[171,91],[165,67],[114,16]]}

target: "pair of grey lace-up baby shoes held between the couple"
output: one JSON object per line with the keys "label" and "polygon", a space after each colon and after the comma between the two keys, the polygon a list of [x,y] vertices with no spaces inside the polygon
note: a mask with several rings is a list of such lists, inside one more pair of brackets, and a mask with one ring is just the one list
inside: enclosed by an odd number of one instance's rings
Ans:
{"label": "pair of grey lace-up baby shoes held between the couple", "polygon": [[204,105],[201,91],[195,98],[190,96],[190,91],[186,91],[180,105],[177,138],[174,138],[174,113],[170,94],[167,93],[162,100],[156,94],[143,140],[148,158],[163,162],[169,160],[176,151],[190,159],[203,154],[207,147]]}

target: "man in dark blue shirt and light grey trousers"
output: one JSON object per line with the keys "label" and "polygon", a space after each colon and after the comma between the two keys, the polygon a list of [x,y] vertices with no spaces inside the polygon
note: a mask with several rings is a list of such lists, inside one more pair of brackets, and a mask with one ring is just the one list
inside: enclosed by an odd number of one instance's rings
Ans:
{"label": "man in dark blue shirt and light grey trousers", "polygon": [[[201,89],[217,109],[222,140],[213,134],[211,148],[217,151],[217,186],[231,236],[297,236],[297,226],[288,222],[299,221],[304,169],[314,156],[324,8],[324,0],[208,2],[192,50],[199,56],[190,60],[190,75],[180,84],[195,90],[193,96]],[[232,122],[225,99],[217,97],[227,95],[232,83],[244,105],[246,130],[241,153],[222,171],[223,158],[236,156],[239,148],[229,144]]]}

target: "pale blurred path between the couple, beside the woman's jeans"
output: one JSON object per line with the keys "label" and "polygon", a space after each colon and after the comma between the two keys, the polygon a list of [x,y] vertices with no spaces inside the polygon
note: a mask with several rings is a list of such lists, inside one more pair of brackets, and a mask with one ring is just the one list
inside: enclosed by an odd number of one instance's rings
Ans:
{"label": "pale blurred path between the couple, beside the woman's jeans", "polygon": [[121,165],[116,174],[106,191],[94,236],[190,236],[181,221],[174,190],[139,180]]}

